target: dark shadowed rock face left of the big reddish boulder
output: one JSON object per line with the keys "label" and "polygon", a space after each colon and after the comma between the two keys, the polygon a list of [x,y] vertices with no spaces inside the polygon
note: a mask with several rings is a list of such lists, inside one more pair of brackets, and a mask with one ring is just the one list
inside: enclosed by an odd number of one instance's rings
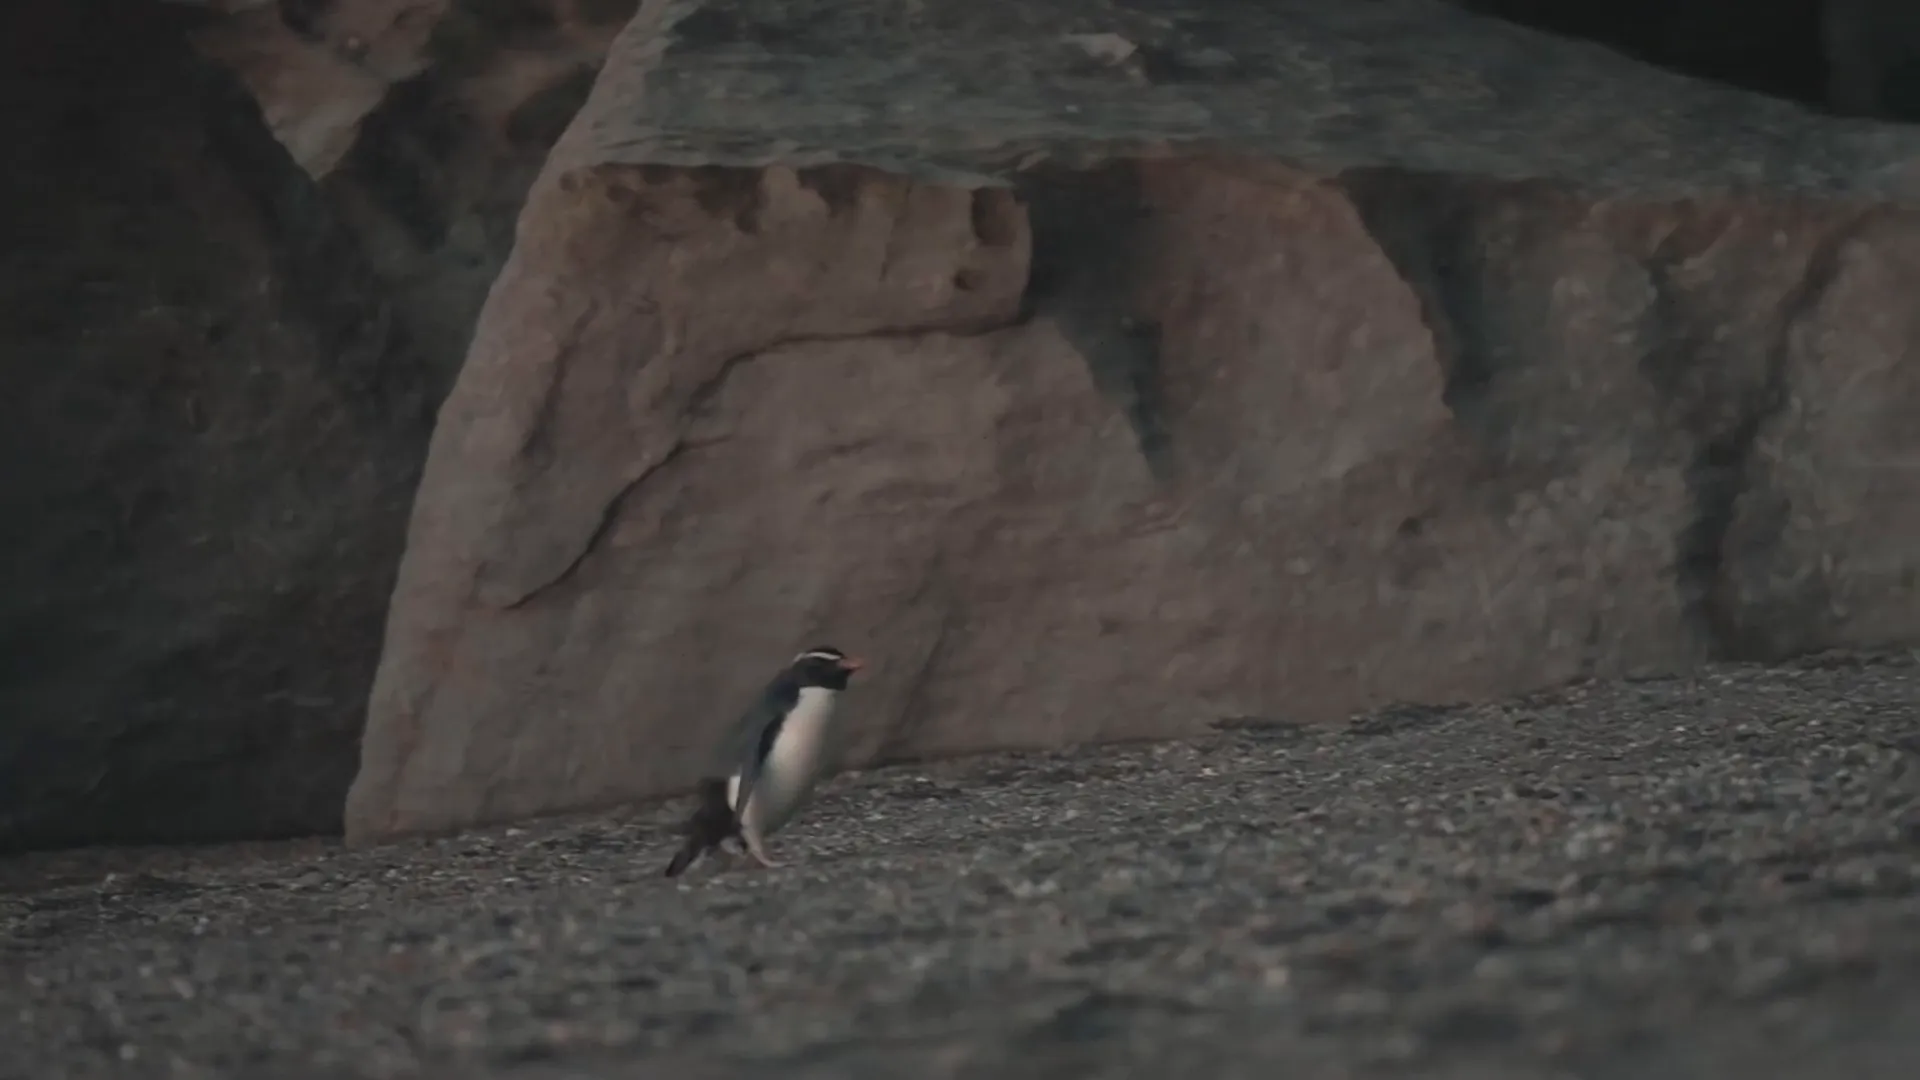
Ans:
{"label": "dark shadowed rock face left of the big reddish boulder", "polygon": [[0,15],[0,849],[340,828],[432,409],[632,12]]}

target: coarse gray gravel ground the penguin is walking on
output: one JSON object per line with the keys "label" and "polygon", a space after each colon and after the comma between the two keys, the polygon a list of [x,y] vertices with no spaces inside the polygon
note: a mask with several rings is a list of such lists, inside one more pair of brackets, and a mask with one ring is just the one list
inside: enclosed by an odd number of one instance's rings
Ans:
{"label": "coarse gray gravel ground the penguin is walking on", "polygon": [[0,1076],[1914,1076],[1916,673],[887,769],[680,882],[682,805],[15,859]]}

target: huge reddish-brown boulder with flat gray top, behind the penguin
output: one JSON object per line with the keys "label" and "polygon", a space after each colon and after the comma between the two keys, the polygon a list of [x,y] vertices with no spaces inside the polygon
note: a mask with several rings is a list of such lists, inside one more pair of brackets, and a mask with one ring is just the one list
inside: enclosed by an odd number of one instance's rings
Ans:
{"label": "huge reddish-brown boulder with flat gray top, behind the penguin", "polygon": [[1912,640],[1916,152],[1413,0],[649,0],[348,832],[678,790],[812,640],[847,763]]}

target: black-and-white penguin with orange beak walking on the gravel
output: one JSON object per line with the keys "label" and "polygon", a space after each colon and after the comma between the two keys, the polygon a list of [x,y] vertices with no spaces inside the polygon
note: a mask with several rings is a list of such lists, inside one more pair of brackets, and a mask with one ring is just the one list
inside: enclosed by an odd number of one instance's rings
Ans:
{"label": "black-and-white penguin with orange beak walking on the gravel", "polygon": [[780,867],[766,855],[766,838],[812,796],[828,767],[839,694],[860,667],[841,650],[820,646],[793,657],[766,684],[720,742],[720,774],[701,778],[693,813],[682,824],[685,844],[666,876],[680,876],[728,840],[762,867]]}

